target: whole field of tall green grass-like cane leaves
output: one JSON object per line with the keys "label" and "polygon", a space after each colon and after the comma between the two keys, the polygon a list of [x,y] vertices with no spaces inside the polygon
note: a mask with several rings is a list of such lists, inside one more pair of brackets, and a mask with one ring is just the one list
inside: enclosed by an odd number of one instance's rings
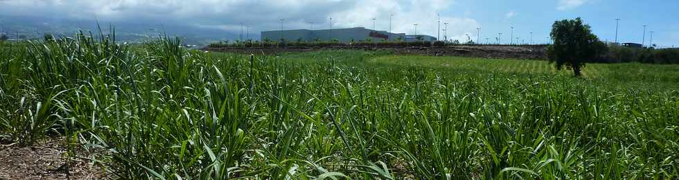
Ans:
{"label": "whole field of tall green grass-like cane leaves", "polygon": [[1,137],[129,179],[679,178],[678,65],[178,45],[0,44]]}

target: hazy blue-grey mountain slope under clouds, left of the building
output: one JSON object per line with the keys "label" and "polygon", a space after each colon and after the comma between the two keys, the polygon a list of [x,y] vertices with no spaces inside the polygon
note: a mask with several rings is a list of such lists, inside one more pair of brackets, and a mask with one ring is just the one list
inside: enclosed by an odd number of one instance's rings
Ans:
{"label": "hazy blue-grey mountain slope under clouds, left of the building", "polygon": [[[150,37],[167,34],[182,38],[184,44],[205,46],[212,42],[237,39],[238,34],[214,28],[200,28],[182,24],[147,24],[134,22],[102,22],[99,26],[104,34],[109,34],[109,26],[116,31],[116,40],[121,42],[143,42]],[[25,17],[0,15],[0,34],[10,38],[25,36],[26,38],[42,38],[45,33],[58,36],[72,36],[83,30],[98,34],[97,21],[76,21],[55,17]],[[258,37],[258,35],[249,35]]]}

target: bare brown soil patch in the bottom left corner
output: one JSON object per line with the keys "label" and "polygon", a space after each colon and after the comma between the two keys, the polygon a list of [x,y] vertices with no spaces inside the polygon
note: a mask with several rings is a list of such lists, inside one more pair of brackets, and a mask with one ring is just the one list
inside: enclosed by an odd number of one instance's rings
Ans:
{"label": "bare brown soil patch in the bottom left corner", "polygon": [[102,168],[82,158],[82,151],[67,165],[66,152],[66,143],[58,138],[30,147],[0,144],[0,179],[109,179]]}

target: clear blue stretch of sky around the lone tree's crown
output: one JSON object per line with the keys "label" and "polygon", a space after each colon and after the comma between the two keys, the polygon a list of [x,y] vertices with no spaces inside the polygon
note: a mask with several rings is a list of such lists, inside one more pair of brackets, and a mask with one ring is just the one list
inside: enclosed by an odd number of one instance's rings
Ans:
{"label": "clear blue stretch of sky around the lone tree's crown", "polygon": [[[569,4],[571,6],[563,6]],[[679,45],[679,1],[572,0],[567,3],[459,0],[452,7],[455,8],[443,14],[476,19],[482,26],[482,37],[509,34],[510,27],[514,26],[517,36],[529,38],[529,33],[533,32],[534,41],[546,42],[555,20],[582,17],[599,39],[612,42],[615,39],[615,19],[619,18],[619,42],[641,43],[643,26],[648,25],[646,44],[649,44],[650,31],[653,30],[653,44]]]}

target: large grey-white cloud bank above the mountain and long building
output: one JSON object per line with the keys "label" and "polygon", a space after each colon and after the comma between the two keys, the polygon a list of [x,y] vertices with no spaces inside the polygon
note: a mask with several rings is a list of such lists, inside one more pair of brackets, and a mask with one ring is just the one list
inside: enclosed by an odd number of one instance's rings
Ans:
{"label": "large grey-white cloud bank above the mountain and long building", "polygon": [[[389,15],[394,15],[395,33],[418,33],[436,36],[436,12],[450,9],[450,0],[0,0],[5,15],[32,15],[63,19],[99,19],[100,21],[134,21],[150,24],[188,24],[238,32],[240,22],[252,26],[252,32],[284,28],[333,28],[364,26],[388,30]],[[30,14],[29,14],[30,13]],[[35,13],[35,14],[33,14]],[[464,35],[479,27],[475,19],[441,15],[448,22],[448,36]],[[441,37],[443,32],[441,31]]]}

